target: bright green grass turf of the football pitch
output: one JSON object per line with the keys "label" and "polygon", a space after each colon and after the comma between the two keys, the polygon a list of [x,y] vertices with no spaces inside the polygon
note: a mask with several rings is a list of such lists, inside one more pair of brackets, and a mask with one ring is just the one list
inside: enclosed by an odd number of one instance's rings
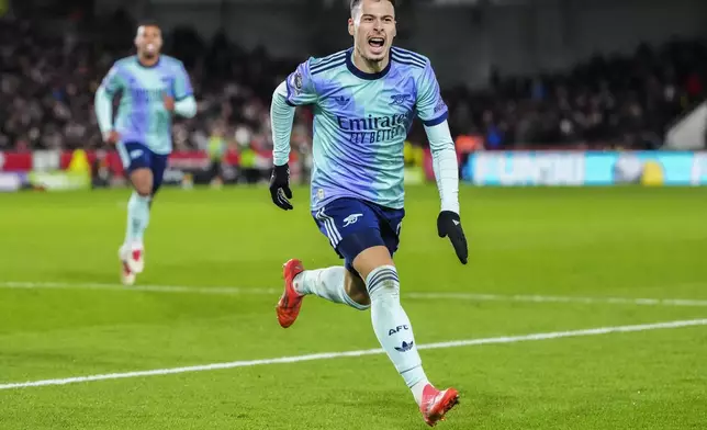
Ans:
{"label": "bright green grass turf of the football pitch", "polygon": [[[338,264],[295,189],[164,190],[139,285],[121,291],[127,191],[0,194],[0,386],[379,348],[370,314],[307,297],[276,319],[281,264]],[[707,318],[707,190],[462,188],[470,264],[409,188],[396,256],[417,343]],[[19,282],[20,284],[11,284]],[[35,286],[34,288],[19,286]],[[14,287],[11,287],[14,286]],[[685,298],[692,305],[406,293]],[[440,429],[704,429],[707,326],[420,352],[461,404]],[[0,429],[423,429],[384,354],[0,389]]]}

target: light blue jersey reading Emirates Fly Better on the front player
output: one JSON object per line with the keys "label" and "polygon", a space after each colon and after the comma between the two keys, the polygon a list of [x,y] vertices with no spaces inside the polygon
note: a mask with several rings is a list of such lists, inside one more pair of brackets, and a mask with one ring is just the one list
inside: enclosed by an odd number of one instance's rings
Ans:
{"label": "light blue jersey reading Emirates Fly Better on the front player", "polygon": [[413,121],[433,126],[448,115],[429,59],[393,47],[384,70],[366,73],[349,48],[302,63],[287,89],[288,104],[314,106],[312,211],[339,197],[402,208]]}

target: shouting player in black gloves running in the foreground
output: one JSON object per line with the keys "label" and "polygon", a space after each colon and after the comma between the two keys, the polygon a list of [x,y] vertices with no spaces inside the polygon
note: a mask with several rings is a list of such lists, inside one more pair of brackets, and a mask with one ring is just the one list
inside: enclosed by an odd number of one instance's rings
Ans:
{"label": "shouting player in black gloves running in the foreground", "polygon": [[411,388],[425,422],[434,426],[458,403],[459,394],[454,388],[438,391],[425,375],[413,326],[400,303],[392,259],[405,214],[403,146],[414,117],[425,124],[434,158],[441,197],[438,234],[449,237],[465,264],[457,154],[429,60],[392,47],[394,1],[352,0],[350,9],[354,47],[310,58],[272,97],[272,201],[292,210],[288,161],[294,106],[313,104],[311,211],[345,260],[344,267],[306,271],[300,260],[288,261],[277,314],[280,325],[290,327],[308,294],[355,309],[370,307],[378,340]]}

